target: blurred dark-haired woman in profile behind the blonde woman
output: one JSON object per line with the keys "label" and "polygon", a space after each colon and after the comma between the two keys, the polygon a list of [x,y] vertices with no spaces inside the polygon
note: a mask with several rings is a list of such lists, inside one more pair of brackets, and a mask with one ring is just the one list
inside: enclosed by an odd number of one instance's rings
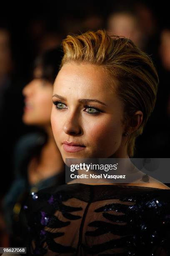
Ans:
{"label": "blurred dark-haired woman in profile behind the blonde woman", "polygon": [[20,139],[15,150],[15,181],[5,196],[3,206],[10,246],[25,246],[25,218],[21,207],[30,193],[65,183],[65,165],[52,134],[50,114],[52,84],[62,58],[60,49],[40,56],[33,79],[23,89],[23,122],[35,125],[37,132]]}

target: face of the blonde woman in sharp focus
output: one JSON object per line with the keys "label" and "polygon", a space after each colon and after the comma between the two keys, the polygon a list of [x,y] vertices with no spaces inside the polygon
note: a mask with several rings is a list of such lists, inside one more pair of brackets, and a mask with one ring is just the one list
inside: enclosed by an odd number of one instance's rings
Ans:
{"label": "face of the blonde woman in sharp focus", "polygon": [[92,64],[64,64],[58,73],[51,123],[64,161],[120,156],[123,104],[110,83],[103,68]]}

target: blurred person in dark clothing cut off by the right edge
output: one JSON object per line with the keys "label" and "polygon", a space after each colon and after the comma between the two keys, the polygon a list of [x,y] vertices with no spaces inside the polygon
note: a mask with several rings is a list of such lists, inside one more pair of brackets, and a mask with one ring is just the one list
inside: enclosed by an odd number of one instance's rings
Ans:
{"label": "blurred person in dark clothing cut off by the right edge", "polygon": [[[156,64],[160,85],[155,109],[147,124],[145,136],[138,138],[136,157],[140,157],[140,154],[152,158],[170,157],[170,30],[168,26],[160,32],[159,41]],[[147,148],[146,143],[148,143]]]}

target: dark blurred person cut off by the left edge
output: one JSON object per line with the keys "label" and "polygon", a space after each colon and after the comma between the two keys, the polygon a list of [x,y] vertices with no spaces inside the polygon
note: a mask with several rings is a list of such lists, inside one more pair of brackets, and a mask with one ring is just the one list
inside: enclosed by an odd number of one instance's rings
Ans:
{"label": "dark blurred person cut off by the left edge", "polygon": [[20,97],[22,79],[18,77],[13,47],[11,31],[7,26],[0,27],[0,160],[1,168],[4,170],[4,183],[0,188],[2,197],[13,181],[12,154],[23,126],[20,118],[23,106],[22,97]]}

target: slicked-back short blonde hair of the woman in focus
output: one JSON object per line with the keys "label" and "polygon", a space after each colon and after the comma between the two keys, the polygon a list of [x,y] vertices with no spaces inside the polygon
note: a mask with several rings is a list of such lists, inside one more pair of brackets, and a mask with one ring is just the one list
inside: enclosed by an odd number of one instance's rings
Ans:
{"label": "slicked-back short blonde hair of the woman in focus", "polygon": [[128,136],[128,155],[132,157],[135,139],[143,133],[155,106],[159,79],[153,61],[130,39],[108,36],[105,30],[69,35],[62,46],[64,57],[61,67],[70,61],[96,64],[105,68],[113,84],[116,78],[116,93],[124,103],[127,128],[134,113],[138,110],[143,112],[140,127]]}

